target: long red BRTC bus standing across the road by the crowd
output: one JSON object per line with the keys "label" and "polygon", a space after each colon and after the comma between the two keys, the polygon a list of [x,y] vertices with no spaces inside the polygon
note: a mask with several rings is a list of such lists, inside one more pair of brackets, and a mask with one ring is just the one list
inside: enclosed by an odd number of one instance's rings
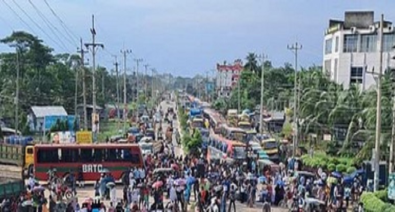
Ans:
{"label": "long red BRTC bus standing across the road by the crowd", "polygon": [[38,144],[34,146],[34,171],[39,180],[56,168],[57,176],[82,171],[84,180],[93,181],[103,172],[122,179],[131,167],[144,167],[138,144]]}

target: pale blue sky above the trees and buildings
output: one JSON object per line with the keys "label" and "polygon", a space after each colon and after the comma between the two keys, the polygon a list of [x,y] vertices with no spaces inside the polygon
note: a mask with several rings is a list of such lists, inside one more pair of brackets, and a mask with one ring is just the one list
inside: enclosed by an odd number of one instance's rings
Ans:
{"label": "pale blue sky above the trees and buildings", "polygon": [[[213,74],[217,63],[264,52],[275,66],[294,63],[287,44],[302,44],[299,64],[322,65],[324,31],[329,19],[349,10],[375,11],[395,22],[389,0],[0,0],[0,38],[24,30],[37,35],[55,53],[76,53],[78,38],[92,42],[95,15],[98,65],[114,68],[129,49],[134,59],[160,73],[180,76]],[[37,8],[37,10],[33,7]],[[10,9],[11,8],[11,9]],[[17,15],[13,12],[15,11]],[[62,24],[64,23],[64,25]],[[66,30],[67,33],[66,33]],[[0,44],[0,52],[11,51]],[[91,54],[88,56],[91,59]],[[90,64],[91,65],[91,64]],[[122,64],[123,65],[123,64]]]}

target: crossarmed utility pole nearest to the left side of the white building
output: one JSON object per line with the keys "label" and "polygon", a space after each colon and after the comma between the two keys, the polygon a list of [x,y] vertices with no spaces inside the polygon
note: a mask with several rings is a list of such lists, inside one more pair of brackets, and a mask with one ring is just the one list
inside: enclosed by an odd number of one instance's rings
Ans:
{"label": "crossarmed utility pole nearest to the left side of the white building", "polygon": [[292,155],[295,157],[296,148],[298,146],[298,121],[297,121],[297,110],[298,110],[298,96],[299,96],[299,88],[298,88],[298,52],[302,49],[302,45],[298,42],[292,44],[291,46],[287,46],[287,48],[294,52],[295,54],[295,82],[294,82],[294,138],[293,138],[293,151]]}

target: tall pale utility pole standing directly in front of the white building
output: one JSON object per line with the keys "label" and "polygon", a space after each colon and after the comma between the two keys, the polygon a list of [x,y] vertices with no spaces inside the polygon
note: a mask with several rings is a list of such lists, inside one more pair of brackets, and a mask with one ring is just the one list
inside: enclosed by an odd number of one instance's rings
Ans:
{"label": "tall pale utility pole standing directly in front of the white building", "polygon": [[377,77],[377,113],[376,113],[376,141],[375,141],[375,191],[379,189],[379,166],[380,166],[380,143],[381,143],[381,77],[383,74],[383,23],[384,15],[381,14],[380,20],[380,69]]}

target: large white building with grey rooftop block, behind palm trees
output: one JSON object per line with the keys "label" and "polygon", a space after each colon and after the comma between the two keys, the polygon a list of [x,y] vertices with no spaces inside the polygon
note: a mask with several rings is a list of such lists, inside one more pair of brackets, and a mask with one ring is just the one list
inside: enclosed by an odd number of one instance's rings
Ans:
{"label": "large white building with grey rooftop block, behind palm trees", "polygon": [[[383,72],[395,67],[393,25],[384,21]],[[332,81],[349,88],[375,86],[371,73],[380,70],[380,21],[374,21],[373,11],[345,12],[343,20],[329,20],[325,31],[323,71]]]}

